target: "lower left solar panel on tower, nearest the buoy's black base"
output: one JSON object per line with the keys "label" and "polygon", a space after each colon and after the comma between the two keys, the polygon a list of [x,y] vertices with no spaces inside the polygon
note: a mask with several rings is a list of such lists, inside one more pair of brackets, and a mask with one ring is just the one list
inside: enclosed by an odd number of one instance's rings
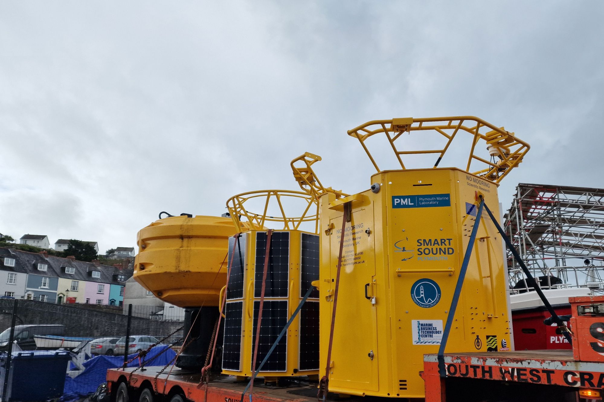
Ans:
{"label": "lower left solar panel on tower, nearest the buoy's black base", "polygon": [[222,369],[240,371],[243,301],[226,303],[225,316],[225,330],[222,344]]}

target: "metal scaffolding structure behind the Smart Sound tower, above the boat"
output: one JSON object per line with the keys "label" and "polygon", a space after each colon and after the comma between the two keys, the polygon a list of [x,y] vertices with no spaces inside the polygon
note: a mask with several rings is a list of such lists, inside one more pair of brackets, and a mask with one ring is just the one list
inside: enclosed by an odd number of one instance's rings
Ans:
{"label": "metal scaffolding structure behind the Smart Sound tower, above the boat", "polygon": [[[504,228],[544,289],[604,294],[604,189],[520,183]],[[508,250],[510,289],[532,290]]]}

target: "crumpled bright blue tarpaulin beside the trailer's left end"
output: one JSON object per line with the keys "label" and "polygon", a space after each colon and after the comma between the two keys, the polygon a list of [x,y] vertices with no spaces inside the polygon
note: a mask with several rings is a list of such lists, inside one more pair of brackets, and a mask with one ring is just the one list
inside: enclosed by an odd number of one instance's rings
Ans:
{"label": "crumpled bright blue tarpaulin beside the trailer's left end", "polygon": [[[172,349],[166,350],[169,346],[161,345],[152,348],[144,359],[145,366],[165,366],[170,360],[176,356]],[[161,354],[160,354],[161,353]],[[128,360],[132,360],[128,367],[138,367],[137,353],[128,356]],[[141,361],[142,362],[142,361]],[[95,356],[83,363],[85,370],[76,378],[71,378],[69,375],[65,379],[65,389],[63,390],[62,401],[77,400],[86,397],[89,394],[97,391],[98,386],[106,380],[107,369],[121,368],[124,364],[123,356]]]}

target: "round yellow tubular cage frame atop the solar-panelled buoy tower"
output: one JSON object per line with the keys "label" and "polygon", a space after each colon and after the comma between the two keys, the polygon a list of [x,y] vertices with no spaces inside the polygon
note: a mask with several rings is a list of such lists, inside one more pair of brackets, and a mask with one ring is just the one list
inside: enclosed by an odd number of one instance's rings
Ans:
{"label": "round yellow tubular cage frame atop the solar-panelled buoy tower", "polygon": [[[265,198],[264,209],[262,213],[248,211],[245,208],[245,203],[252,199]],[[297,198],[306,201],[307,205],[300,216],[291,217],[285,212],[283,206],[284,199]],[[277,203],[278,209],[281,212],[280,216],[268,215],[268,208],[271,202]],[[265,230],[265,223],[277,222],[283,223],[283,230],[300,230],[300,225],[304,222],[315,222],[315,233],[319,230],[319,205],[315,197],[303,191],[294,190],[259,190],[248,191],[247,193],[237,194],[226,201],[233,223],[239,231],[246,230]],[[245,217],[247,222],[243,221]],[[277,228],[277,230],[280,230]]]}

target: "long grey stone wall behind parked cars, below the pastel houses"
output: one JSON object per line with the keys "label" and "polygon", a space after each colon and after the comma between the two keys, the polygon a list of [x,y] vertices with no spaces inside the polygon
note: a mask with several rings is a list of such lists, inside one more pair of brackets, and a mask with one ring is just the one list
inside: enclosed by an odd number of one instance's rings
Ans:
{"label": "long grey stone wall behind parked cars, below the pastel houses", "polygon": [[[0,299],[0,331],[10,327],[13,303],[12,299]],[[126,336],[128,317],[124,314],[33,300],[19,300],[18,303],[17,325],[62,324],[65,325],[65,336]],[[182,322],[178,321],[132,317],[130,334],[151,335],[161,339],[181,326]]]}

